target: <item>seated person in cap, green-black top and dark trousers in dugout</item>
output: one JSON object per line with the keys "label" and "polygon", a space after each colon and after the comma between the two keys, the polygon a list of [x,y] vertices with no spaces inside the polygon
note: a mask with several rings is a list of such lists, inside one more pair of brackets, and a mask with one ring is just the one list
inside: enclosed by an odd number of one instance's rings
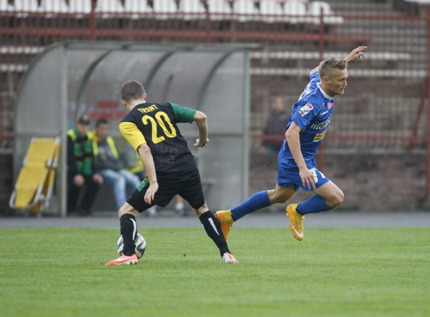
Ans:
{"label": "seated person in cap, green-black top and dark trousers in dugout", "polygon": [[[87,114],[76,122],[76,128],[67,132],[67,213],[79,210],[79,214],[90,214],[98,188],[103,178],[96,172],[94,165],[90,120]],[[78,205],[78,199],[82,199]]]}

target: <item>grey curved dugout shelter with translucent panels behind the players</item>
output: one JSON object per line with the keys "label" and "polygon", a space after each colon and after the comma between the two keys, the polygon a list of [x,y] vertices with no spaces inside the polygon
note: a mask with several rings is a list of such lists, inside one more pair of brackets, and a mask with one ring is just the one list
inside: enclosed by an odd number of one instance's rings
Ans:
{"label": "grey curved dugout shelter with translucent panels behind the players", "polygon": [[[134,79],[143,84],[148,102],[171,101],[203,111],[209,145],[194,149],[195,124],[179,125],[197,158],[205,198],[212,210],[227,209],[247,197],[249,58],[254,45],[144,45],[65,42],[46,47],[33,59],[17,95],[14,128],[14,180],[33,137],[60,137],[83,113],[118,124],[127,113],[120,89]],[[66,216],[66,146],[61,147],[50,213]],[[210,186],[210,191],[208,188]],[[115,208],[114,208],[115,209]]]}

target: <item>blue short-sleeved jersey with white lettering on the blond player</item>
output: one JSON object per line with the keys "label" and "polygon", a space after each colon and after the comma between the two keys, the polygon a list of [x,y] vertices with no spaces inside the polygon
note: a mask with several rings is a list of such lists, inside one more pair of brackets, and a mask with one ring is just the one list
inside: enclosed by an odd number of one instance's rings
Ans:
{"label": "blue short-sleeved jersey with white lettering on the blond player", "polygon": [[[332,119],[333,98],[319,88],[319,82],[319,72],[312,73],[309,84],[293,106],[286,127],[288,130],[293,121],[300,126],[300,149],[305,161],[314,157]],[[286,141],[283,151],[285,158],[293,158]]]}

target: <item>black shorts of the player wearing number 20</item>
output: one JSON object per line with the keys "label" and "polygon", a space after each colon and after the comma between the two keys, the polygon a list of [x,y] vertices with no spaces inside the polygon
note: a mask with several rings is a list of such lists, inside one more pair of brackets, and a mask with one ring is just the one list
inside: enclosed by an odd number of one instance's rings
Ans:
{"label": "black shorts of the player wearing number 20", "polygon": [[204,205],[203,189],[198,169],[185,174],[171,174],[167,178],[157,177],[157,182],[158,191],[154,195],[152,205],[146,204],[143,200],[149,187],[148,179],[143,180],[128,198],[127,203],[140,213],[153,205],[166,207],[176,195],[181,196],[194,209],[199,209]]}

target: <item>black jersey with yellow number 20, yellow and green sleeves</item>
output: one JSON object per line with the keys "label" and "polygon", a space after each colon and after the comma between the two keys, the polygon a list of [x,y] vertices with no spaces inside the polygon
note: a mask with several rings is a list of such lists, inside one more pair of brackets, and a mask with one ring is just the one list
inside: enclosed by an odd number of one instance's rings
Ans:
{"label": "black jersey with yellow number 20, yellow and green sleeves", "polygon": [[142,103],[124,117],[119,128],[135,150],[141,144],[148,145],[157,177],[166,173],[187,173],[197,165],[177,123],[192,123],[196,112],[170,102]]}

